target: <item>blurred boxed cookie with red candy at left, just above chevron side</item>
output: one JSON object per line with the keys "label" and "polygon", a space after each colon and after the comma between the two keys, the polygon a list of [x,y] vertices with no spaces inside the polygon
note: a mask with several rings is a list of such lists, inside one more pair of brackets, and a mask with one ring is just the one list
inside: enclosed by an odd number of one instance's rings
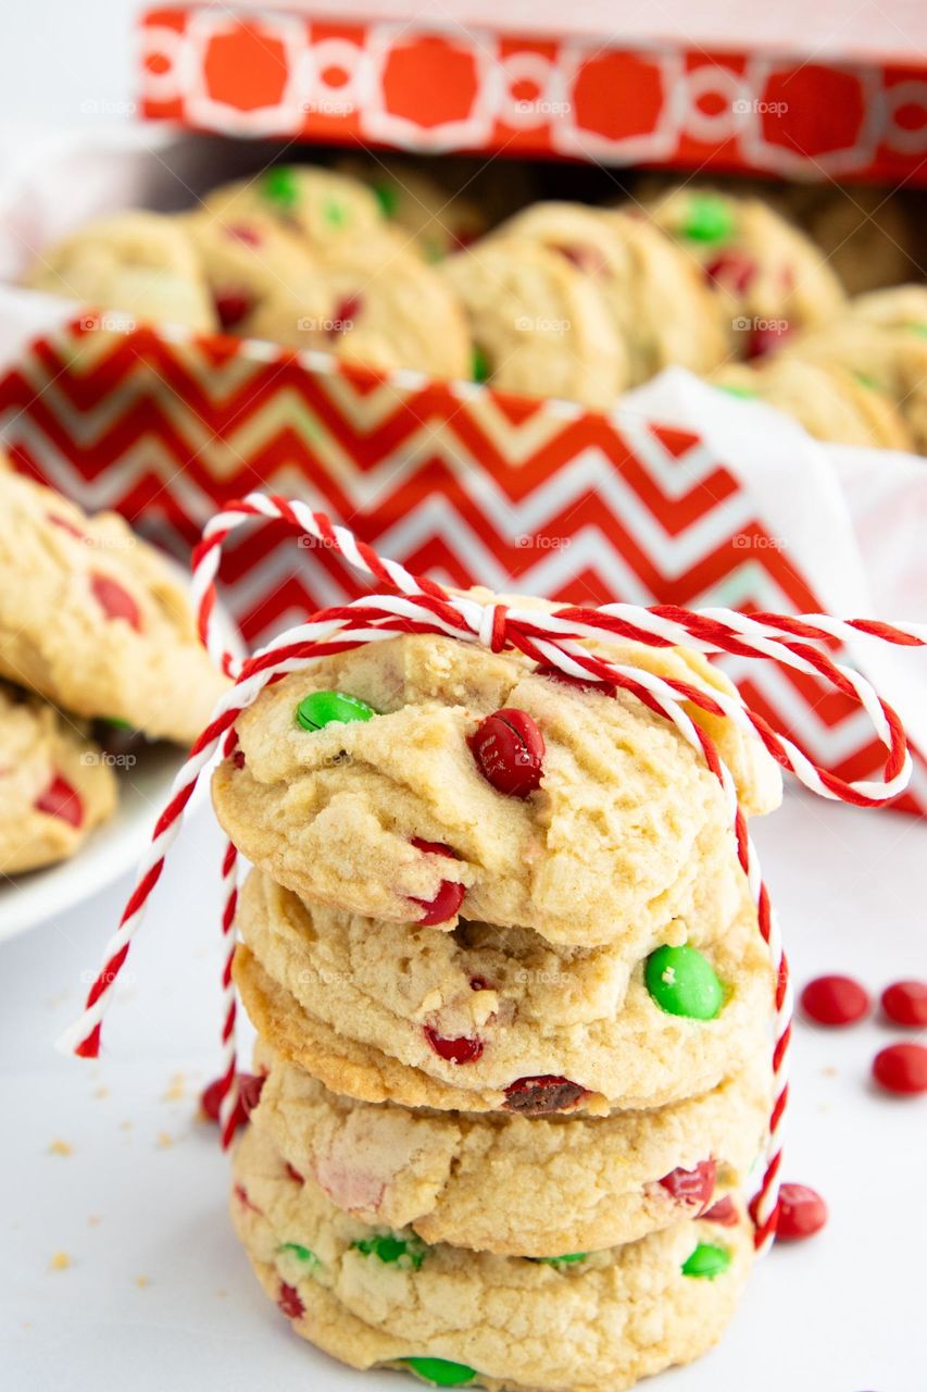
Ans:
{"label": "blurred boxed cookie with red candy at left, just above chevron side", "polygon": [[322,258],[322,274],[331,306],[322,342],[310,341],[317,334],[306,334],[305,303],[288,292],[264,303],[251,333],[292,348],[322,348],[377,372],[469,376],[472,348],[461,306],[399,234],[344,239]]}

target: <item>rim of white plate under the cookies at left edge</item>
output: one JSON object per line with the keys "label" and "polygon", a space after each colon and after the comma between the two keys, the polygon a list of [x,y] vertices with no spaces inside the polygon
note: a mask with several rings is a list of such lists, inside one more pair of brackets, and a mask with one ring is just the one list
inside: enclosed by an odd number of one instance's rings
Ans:
{"label": "rim of white plate under the cookies at left edge", "polygon": [[[0,942],[82,903],[138,863],[184,761],[174,745],[148,745],[132,768],[117,770],[118,806],[70,860],[0,878]],[[116,924],[114,924],[116,927]]]}

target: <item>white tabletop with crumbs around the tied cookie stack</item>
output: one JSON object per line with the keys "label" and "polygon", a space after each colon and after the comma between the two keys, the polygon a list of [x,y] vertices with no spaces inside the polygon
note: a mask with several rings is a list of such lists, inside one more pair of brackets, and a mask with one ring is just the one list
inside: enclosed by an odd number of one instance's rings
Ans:
{"label": "white tabletop with crumbs around the tied cookie stack", "polygon": [[[799,981],[842,970],[878,990],[927,974],[927,825],[793,796],[756,830]],[[203,810],[168,862],[97,1063],[52,1040],[127,884],[0,948],[0,1384],[15,1392],[413,1386],[296,1340],[230,1231],[225,1160],[195,1119],[219,1059],[219,853]],[[825,1194],[830,1225],[774,1250],[721,1346],[653,1392],[924,1392],[927,1098],[867,1082],[894,1037],[876,1022],[798,1029],[785,1175]]]}

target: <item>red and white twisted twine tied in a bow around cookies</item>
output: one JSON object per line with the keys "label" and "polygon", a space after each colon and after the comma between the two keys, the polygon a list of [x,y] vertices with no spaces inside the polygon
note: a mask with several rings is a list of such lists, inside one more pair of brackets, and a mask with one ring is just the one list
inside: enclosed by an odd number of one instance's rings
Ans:
{"label": "red and white twisted twine tied in a bow around cookies", "polygon": [[[225,650],[216,619],[216,575],[227,537],[256,519],[288,523],[310,541],[340,553],[345,561],[393,593],[369,594],[349,604],[320,610],[305,624],[281,633],[253,656],[235,658]],[[444,633],[493,651],[515,649],[539,663],[558,667],[571,677],[599,678],[636,696],[649,710],[675,725],[681,736],[702,754],[721,784],[738,859],[756,903],[759,928],[768,944],[775,973],[774,1105],[763,1176],[750,1203],[756,1246],[759,1250],[766,1249],[775,1235],[778,1208],[781,1130],[788,1098],[792,990],[777,917],[763,883],[746,818],[738,805],[734,778],[713,741],[685,707],[695,706],[707,714],[729,720],[745,734],[759,739],[782,768],[795,774],[806,788],[821,798],[863,807],[885,803],[901,793],[910,778],[912,760],[905,729],[896,713],[880,699],[866,678],[838,663],[830,656],[828,649],[860,638],[923,647],[927,646],[927,625],[835,619],[827,614],[747,617],[724,608],[685,610],[667,604],[651,608],[636,604],[604,604],[599,608],[562,606],[553,612],[501,603],[483,604],[472,596],[448,592],[434,580],[412,575],[395,561],[379,557],[345,528],[333,525],[323,512],[313,512],[303,503],[260,493],[231,503],[206,525],[202,540],[193,551],[192,567],[200,638],[214,661],[234,678],[234,686],[216,704],[209,727],[195,741],[187,763],[174,780],[170,800],[154,825],[150,846],[139,866],[135,888],[125,905],[120,926],[106,945],[103,966],[89,990],[84,1013],[61,1041],[63,1045],[84,1058],[97,1055],[103,1016],[111,1001],[116,980],[142,922],[152,889],[160,878],[167,851],[180,831],[187,803],[220,745],[223,757],[231,754],[238,738],[235,721],[258,699],[264,686],[315,658],[405,633]],[[781,731],[774,729],[768,721],[750,710],[739,695],[706,692],[683,681],[656,677],[639,667],[610,663],[585,647],[583,643],[587,640],[605,643],[631,640],[650,647],[689,646],[703,653],[766,658],[793,671],[823,678],[869,715],[885,749],[882,777],[876,781],[845,782],[807,759]],[[235,1129],[238,1091],[235,992],[231,981],[237,852],[231,845],[223,860],[223,884],[225,888],[223,937],[227,952],[223,972],[225,1069],[220,1121],[223,1143],[228,1144]]]}

